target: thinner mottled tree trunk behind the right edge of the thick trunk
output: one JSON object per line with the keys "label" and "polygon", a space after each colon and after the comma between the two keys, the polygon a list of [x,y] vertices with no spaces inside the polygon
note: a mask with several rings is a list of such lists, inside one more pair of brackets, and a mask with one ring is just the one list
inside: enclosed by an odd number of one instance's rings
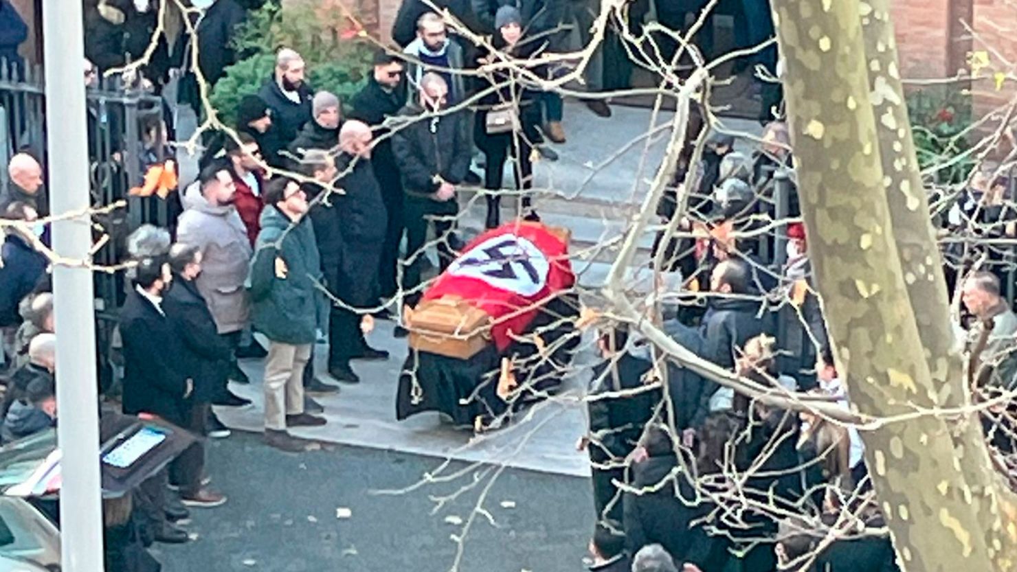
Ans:
{"label": "thinner mottled tree trunk behind the right edge of the thick trunk", "polygon": [[[918,334],[932,374],[936,398],[942,406],[970,403],[961,358],[950,320],[949,295],[944,285],[943,262],[930,225],[928,196],[911,137],[911,124],[904,103],[904,89],[897,69],[897,42],[890,17],[889,0],[869,0],[862,5],[861,27],[869,65],[870,103],[876,117],[877,137],[883,167],[893,236],[897,244]],[[932,264],[929,261],[934,261]],[[993,466],[976,414],[955,418],[951,427],[954,448],[967,451],[961,468],[971,490],[974,509],[986,530],[1002,530],[999,503],[1013,506],[1014,495]],[[1015,539],[993,535],[990,546],[1013,554]]]}

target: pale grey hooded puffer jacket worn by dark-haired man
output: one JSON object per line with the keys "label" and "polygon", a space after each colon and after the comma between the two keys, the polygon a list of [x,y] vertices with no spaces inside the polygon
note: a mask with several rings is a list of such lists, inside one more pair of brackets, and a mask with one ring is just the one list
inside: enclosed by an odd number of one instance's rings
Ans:
{"label": "pale grey hooded puffer jacket worn by dark-haired man", "polygon": [[219,333],[241,330],[249,317],[243,289],[251,259],[247,228],[232,204],[210,205],[197,183],[187,187],[183,202],[177,240],[201,250],[197,289],[216,318]]}

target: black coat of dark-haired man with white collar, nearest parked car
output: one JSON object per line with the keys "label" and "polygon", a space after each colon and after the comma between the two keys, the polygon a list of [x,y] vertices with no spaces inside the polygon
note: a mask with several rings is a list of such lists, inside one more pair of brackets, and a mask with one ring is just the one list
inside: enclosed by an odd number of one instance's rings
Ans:
{"label": "black coat of dark-haired man with white collar, nearest parked car", "polygon": [[187,375],[179,360],[183,343],[170,320],[135,289],[127,293],[120,309],[120,337],[124,412],[154,414],[183,425],[187,392]]}

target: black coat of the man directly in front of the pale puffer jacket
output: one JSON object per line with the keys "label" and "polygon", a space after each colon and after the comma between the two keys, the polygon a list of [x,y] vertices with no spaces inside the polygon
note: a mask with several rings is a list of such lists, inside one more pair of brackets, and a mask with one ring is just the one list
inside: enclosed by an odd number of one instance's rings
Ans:
{"label": "black coat of the man directly in front of the pale puffer jacket", "polygon": [[229,343],[220,337],[208,305],[192,280],[174,274],[170,290],[163,298],[163,308],[183,342],[176,361],[180,370],[194,380],[192,398],[212,401],[219,395],[229,374],[232,354]]}

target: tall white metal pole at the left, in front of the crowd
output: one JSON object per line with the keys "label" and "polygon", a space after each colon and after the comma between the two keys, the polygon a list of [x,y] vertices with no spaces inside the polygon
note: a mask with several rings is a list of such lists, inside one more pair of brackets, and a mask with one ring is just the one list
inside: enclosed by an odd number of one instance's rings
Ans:
{"label": "tall white metal pole at the left, in front of the crowd", "polygon": [[[81,2],[43,0],[50,209],[54,214],[82,213],[53,225],[54,251],[67,260],[87,260],[92,247],[92,227],[86,214],[91,204],[83,34]],[[60,417],[57,440],[63,474],[61,569],[102,572],[103,511],[92,271],[56,265],[53,300]]]}

